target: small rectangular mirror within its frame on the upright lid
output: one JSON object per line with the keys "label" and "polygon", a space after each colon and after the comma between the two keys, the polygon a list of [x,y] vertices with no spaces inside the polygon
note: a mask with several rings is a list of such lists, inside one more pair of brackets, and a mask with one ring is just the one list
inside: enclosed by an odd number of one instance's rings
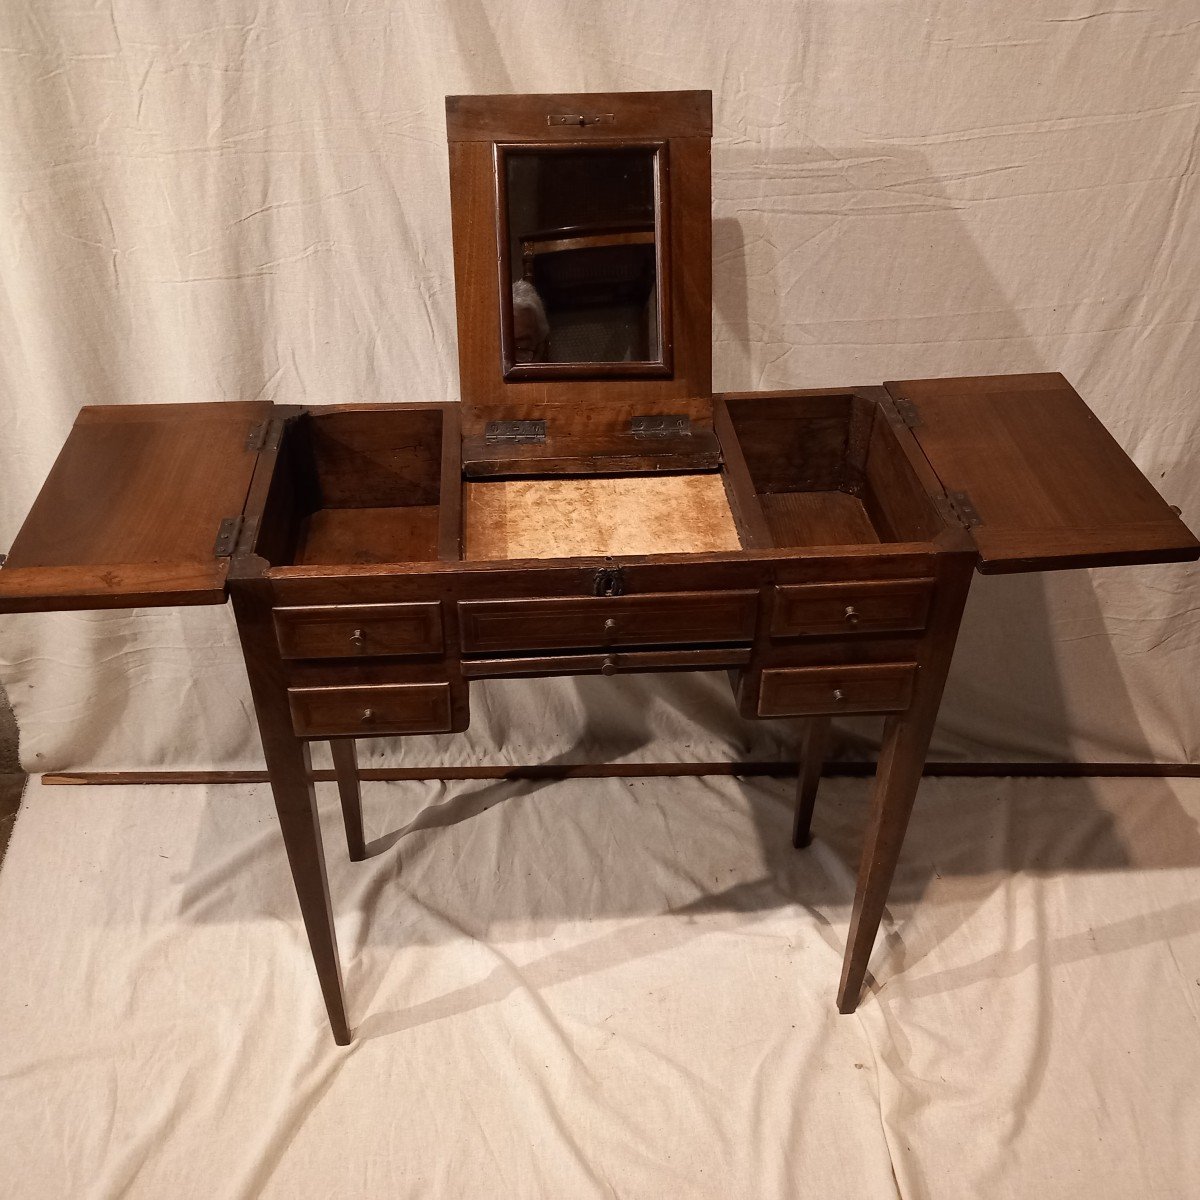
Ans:
{"label": "small rectangular mirror within its frame on the upright lid", "polygon": [[505,378],[670,373],[664,148],[499,151]]}

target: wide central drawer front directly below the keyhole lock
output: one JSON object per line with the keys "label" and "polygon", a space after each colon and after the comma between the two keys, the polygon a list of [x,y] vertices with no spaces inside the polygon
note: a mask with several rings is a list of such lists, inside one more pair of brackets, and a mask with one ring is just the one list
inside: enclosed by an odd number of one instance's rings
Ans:
{"label": "wide central drawer front directly below the keyhole lock", "polygon": [[458,625],[467,654],[704,644],[752,641],[757,610],[757,592],[462,600]]}

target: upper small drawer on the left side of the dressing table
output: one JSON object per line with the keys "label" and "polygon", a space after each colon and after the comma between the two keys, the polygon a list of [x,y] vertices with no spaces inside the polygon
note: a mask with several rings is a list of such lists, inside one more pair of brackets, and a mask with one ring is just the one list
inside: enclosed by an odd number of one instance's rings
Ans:
{"label": "upper small drawer on the left side of the dressing table", "polygon": [[275,637],[286,659],[439,654],[442,605],[434,601],[276,608]]}

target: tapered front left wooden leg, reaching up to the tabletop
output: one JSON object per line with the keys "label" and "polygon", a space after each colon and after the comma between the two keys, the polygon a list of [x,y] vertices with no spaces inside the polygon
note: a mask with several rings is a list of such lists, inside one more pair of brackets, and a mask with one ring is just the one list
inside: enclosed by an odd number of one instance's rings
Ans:
{"label": "tapered front left wooden leg, reaching up to the tabletop", "polygon": [[312,767],[308,744],[299,740],[292,730],[282,665],[275,649],[269,594],[259,594],[254,584],[232,588],[230,593],[275,811],[300,901],[300,914],[308,934],[317,980],[325,998],[334,1040],[338,1045],[349,1045],[350,1025],[346,1018],[342,966],[337,958],[334,911],[329,902],[317,797],[308,779]]}

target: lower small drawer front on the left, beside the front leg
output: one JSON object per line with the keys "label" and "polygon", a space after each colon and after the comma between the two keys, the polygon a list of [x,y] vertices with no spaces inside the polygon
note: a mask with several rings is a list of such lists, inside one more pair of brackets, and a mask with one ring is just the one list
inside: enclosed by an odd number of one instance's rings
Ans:
{"label": "lower small drawer front on the left, beside the front leg", "polygon": [[446,733],[451,725],[448,683],[289,688],[288,704],[301,738]]}

